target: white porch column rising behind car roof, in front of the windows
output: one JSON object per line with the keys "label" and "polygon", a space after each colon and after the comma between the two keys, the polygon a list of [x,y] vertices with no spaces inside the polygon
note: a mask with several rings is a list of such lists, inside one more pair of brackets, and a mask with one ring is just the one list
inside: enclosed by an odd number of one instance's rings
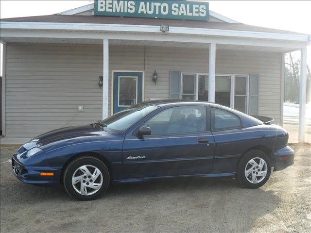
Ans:
{"label": "white porch column rising behind car roof, in front of the windows", "polygon": [[215,102],[216,44],[209,44],[208,102]]}

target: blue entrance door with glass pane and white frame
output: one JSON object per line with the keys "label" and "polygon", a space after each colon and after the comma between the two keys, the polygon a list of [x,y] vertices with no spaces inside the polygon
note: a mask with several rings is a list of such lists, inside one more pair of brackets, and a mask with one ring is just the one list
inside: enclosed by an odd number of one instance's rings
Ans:
{"label": "blue entrance door with glass pane and white frame", "polygon": [[113,72],[113,114],[143,100],[143,72]]}

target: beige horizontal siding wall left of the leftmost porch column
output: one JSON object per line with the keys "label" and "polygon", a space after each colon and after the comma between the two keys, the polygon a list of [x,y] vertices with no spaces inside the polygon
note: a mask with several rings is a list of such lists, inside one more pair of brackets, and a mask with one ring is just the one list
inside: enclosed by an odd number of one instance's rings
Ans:
{"label": "beige horizontal siding wall left of the leftmost porch column", "polygon": [[31,137],[101,118],[101,46],[8,43],[6,64],[6,136]]}

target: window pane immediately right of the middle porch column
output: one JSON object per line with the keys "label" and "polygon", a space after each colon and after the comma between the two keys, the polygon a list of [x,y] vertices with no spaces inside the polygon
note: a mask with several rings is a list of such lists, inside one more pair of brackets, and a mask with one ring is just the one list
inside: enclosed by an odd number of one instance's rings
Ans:
{"label": "window pane immediately right of the middle porch column", "polygon": [[216,76],[215,80],[215,103],[230,107],[230,76]]}

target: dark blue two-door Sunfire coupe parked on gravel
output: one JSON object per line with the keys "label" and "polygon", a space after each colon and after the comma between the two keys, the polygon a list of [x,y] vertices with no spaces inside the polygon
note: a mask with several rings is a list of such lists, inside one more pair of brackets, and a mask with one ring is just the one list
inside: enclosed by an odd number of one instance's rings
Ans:
{"label": "dark blue two-door Sunfire coupe parked on gravel", "polygon": [[24,183],[63,184],[94,200],[111,182],[170,177],[236,177],[258,188],[294,163],[288,133],[273,119],[203,101],[154,100],[102,121],[44,133],[12,157]]}

